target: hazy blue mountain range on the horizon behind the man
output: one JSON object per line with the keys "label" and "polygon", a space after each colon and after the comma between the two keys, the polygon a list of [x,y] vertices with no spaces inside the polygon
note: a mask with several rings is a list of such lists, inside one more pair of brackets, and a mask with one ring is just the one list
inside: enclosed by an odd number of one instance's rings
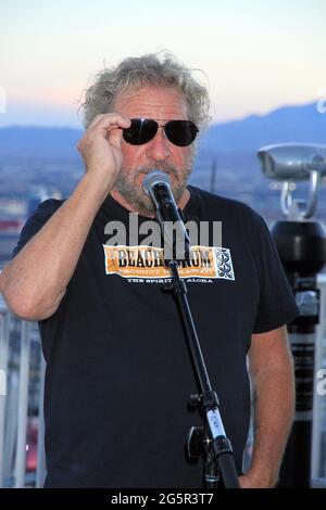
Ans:
{"label": "hazy blue mountain range on the horizon behind the man", "polygon": [[[77,160],[76,143],[82,133],[66,127],[0,128],[0,161],[22,156]],[[214,152],[255,153],[264,144],[278,142],[326,143],[326,113],[318,113],[311,103],[214,124],[202,135],[199,157]]]}

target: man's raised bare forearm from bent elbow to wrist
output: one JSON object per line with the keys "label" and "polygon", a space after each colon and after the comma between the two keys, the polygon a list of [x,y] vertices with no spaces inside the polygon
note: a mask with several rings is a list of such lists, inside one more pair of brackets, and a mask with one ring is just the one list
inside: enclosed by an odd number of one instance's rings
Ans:
{"label": "man's raised bare forearm from bent elbow to wrist", "polygon": [[55,311],[110,190],[104,184],[87,173],[71,197],[3,269],[0,290],[16,315],[39,320]]}

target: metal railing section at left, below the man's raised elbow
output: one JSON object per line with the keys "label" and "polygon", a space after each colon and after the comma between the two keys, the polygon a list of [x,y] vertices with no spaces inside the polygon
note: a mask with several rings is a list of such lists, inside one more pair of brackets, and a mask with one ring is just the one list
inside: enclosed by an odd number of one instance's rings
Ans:
{"label": "metal railing section at left, below the man's raised elbow", "polygon": [[37,323],[14,317],[0,295],[0,487],[43,485],[45,368]]}

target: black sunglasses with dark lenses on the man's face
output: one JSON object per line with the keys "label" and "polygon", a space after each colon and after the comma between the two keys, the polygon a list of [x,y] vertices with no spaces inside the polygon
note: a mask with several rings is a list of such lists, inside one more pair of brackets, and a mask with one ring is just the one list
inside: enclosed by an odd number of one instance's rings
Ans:
{"label": "black sunglasses with dark lenses on the man's face", "polygon": [[167,140],[178,146],[190,145],[199,131],[191,120],[167,120],[160,125],[151,118],[131,118],[131,126],[123,129],[123,137],[131,145],[142,145],[154,138],[159,127],[163,127]]}

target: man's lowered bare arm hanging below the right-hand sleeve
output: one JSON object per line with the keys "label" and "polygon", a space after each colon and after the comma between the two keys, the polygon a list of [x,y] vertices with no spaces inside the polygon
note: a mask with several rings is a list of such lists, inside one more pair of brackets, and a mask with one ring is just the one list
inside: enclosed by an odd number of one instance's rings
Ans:
{"label": "man's lowered bare arm hanging below the right-hand sleeve", "polygon": [[242,487],[273,487],[294,413],[294,374],[285,326],[253,334],[249,350],[254,393],[254,443]]}

